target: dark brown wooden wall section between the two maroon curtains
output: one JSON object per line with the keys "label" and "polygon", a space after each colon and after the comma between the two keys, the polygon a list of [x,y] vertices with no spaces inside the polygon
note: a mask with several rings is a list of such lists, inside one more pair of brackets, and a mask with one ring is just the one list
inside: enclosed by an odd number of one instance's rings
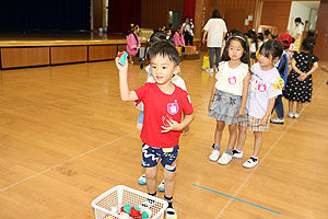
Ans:
{"label": "dark brown wooden wall section between the two maroon curtains", "polygon": [[184,9],[185,0],[142,0],[140,26],[153,30],[167,26],[168,11],[180,11],[183,16]]}

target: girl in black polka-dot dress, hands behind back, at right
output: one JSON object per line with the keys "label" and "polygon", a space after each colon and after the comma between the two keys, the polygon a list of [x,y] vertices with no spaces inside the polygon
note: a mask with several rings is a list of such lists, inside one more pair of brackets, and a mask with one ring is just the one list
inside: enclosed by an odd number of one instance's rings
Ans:
{"label": "girl in black polka-dot dress, hands behind back, at right", "polygon": [[[301,53],[294,53],[292,71],[285,85],[285,97],[289,100],[289,117],[298,118],[304,103],[311,103],[313,80],[312,73],[318,68],[318,57],[313,55],[316,46],[314,37],[306,37],[301,46]],[[293,111],[297,102],[296,112]]]}

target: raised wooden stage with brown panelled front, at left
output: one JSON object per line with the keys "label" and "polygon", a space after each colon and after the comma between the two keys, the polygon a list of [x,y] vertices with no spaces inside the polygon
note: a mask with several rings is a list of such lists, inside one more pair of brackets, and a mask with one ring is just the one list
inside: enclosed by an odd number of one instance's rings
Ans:
{"label": "raised wooden stage with brown panelled front, at left", "polygon": [[0,32],[1,69],[109,60],[126,50],[126,42],[124,34]]}

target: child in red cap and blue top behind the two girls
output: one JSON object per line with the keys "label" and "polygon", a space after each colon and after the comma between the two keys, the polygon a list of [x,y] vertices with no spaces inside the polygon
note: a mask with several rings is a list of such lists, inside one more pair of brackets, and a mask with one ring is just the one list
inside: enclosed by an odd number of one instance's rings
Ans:
{"label": "child in red cap and blue top behind the two girls", "polygon": [[[286,84],[286,78],[288,78],[288,71],[289,71],[288,50],[289,50],[289,47],[292,43],[292,36],[290,34],[281,34],[278,37],[278,41],[282,43],[283,49],[284,49],[280,60],[276,64],[276,67],[278,68],[280,77],[284,81],[284,85],[282,88],[282,93],[284,93],[284,89],[285,89],[285,84]],[[270,123],[273,123],[273,124],[283,124],[284,123],[282,96],[283,95],[278,95],[277,99],[276,99],[273,110],[276,111],[278,117],[270,119]],[[273,111],[272,111],[272,113],[273,113]]]}

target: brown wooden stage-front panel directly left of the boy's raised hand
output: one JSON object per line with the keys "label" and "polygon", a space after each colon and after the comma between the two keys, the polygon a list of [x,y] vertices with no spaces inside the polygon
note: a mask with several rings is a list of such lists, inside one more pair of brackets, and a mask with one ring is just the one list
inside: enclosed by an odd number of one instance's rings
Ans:
{"label": "brown wooden stage-front panel directly left of the boy's raised hand", "polygon": [[114,59],[117,54],[116,45],[105,45],[105,46],[89,46],[89,60],[106,60]]}

